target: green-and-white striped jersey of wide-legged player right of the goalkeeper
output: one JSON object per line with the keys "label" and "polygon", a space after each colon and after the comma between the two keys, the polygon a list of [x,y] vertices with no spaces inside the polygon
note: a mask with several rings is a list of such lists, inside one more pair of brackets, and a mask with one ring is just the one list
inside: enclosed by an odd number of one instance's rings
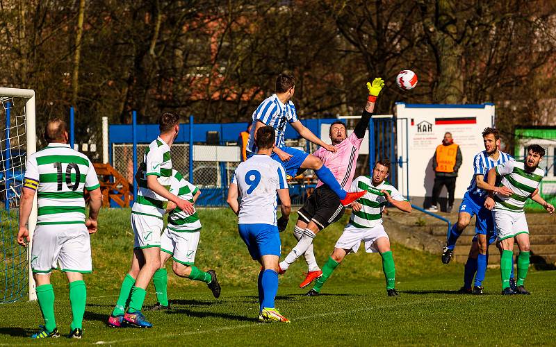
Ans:
{"label": "green-and-white striped jersey of wide-legged player right of the goalkeeper", "polygon": [[395,189],[390,183],[385,180],[377,185],[373,185],[373,179],[370,176],[359,176],[351,185],[350,192],[363,192],[367,194],[359,198],[357,202],[363,205],[361,211],[353,211],[350,217],[350,223],[357,228],[373,228],[382,224],[382,210],[386,205],[386,197],[381,190],[389,192],[394,200],[404,201],[405,198],[398,189]]}

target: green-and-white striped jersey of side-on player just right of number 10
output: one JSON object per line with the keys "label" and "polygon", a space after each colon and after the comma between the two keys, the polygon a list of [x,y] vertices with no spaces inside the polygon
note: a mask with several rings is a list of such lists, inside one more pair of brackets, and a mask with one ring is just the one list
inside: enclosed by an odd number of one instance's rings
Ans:
{"label": "green-and-white striped jersey of side-on player just right of number 10", "polygon": [[166,212],[167,200],[147,188],[147,176],[157,176],[158,183],[166,189],[170,189],[170,177],[172,177],[170,146],[163,139],[157,137],[145,149],[139,170],[141,171],[139,189],[131,213],[162,219]]}

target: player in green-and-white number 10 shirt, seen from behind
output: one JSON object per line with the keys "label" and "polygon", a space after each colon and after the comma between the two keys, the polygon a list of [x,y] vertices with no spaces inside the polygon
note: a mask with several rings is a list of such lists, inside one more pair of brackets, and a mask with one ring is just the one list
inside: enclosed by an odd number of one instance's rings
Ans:
{"label": "player in green-and-white number 10 shirt, seen from behind", "polygon": [[[83,273],[92,272],[89,235],[97,232],[102,195],[90,160],[67,144],[65,121],[48,121],[44,139],[48,146],[28,155],[25,165],[17,234],[17,242],[26,246],[29,241],[27,223],[36,192],[38,219],[29,252],[44,325],[32,338],[60,336],[54,316],[54,289],[50,282],[52,270],[60,266],[70,283],[73,320],[69,337],[81,339],[87,300]],[[90,194],[88,218],[85,218],[83,189]]]}

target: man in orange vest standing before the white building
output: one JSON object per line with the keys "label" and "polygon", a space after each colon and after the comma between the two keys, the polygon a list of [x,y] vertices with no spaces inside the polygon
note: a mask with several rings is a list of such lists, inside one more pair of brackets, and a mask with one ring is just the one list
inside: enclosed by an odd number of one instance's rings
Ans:
{"label": "man in orange vest standing before the white building", "polygon": [[461,151],[454,143],[452,133],[445,133],[442,144],[436,146],[432,157],[432,169],[434,170],[434,186],[432,187],[431,206],[427,210],[438,212],[436,202],[438,201],[442,186],[448,189],[448,210],[452,212],[454,206],[454,191],[456,189],[457,171],[461,167]]}

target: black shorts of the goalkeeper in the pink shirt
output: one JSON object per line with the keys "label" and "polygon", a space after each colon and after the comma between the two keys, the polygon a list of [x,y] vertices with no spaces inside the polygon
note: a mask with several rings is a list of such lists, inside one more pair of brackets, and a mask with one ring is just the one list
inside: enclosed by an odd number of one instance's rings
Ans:
{"label": "black shorts of the goalkeeper in the pink shirt", "polygon": [[299,219],[305,223],[313,221],[318,226],[318,230],[322,230],[339,221],[343,212],[345,212],[345,207],[336,193],[327,185],[321,185],[307,198],[297,214]]}

